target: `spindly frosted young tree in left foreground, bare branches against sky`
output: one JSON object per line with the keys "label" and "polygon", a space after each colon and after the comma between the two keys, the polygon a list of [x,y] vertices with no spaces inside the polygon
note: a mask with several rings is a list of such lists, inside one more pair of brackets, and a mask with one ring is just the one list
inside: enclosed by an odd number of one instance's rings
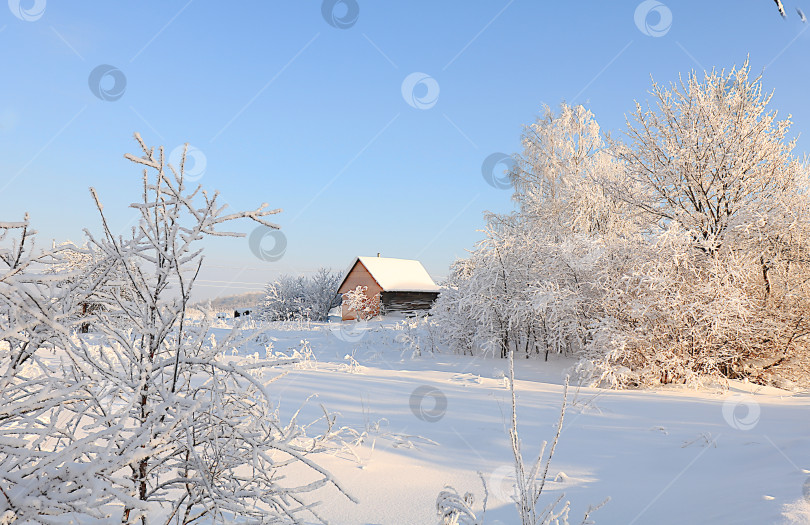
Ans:
{"label": "spindly frosted young tree in left foreground, bare branches against sky", "polygon": [[[196,325],[186,316],[203,262],[200,239],[239,235],[220,227],[242,218],[277,228],[265,217],[280,210],[224,214],[218,194],[187,187],[185,155],[172,166],[163,148],[135,138],[141,151],[125,157],[144,167],[140,202],[131,205],[141,214],[138,226],[128,237],[115,235],[91,190],[103,236],[87,232],[100,264],[120,267],[131,294],[97,290],[99,335],[69,349],[94,401],[83,410],[82,428],[115,429],[96,441],[104,449],[98,455],[126,461],[109,475],[122,496],[108,510],[123,523],[143,524],[320,519],[309,493],[331,485],[346,494],[309,457],[333,436],[334,417],[325,413],[315,436],[295,417],[282,423],[263,374],[283,362],[227,359],[208,337],[210,318]],[[295,483],[288,470],[309,475]]]}

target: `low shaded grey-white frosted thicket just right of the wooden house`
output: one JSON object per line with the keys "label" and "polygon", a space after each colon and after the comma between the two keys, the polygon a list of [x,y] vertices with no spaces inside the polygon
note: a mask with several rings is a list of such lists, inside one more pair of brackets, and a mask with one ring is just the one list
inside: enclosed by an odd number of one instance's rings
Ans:
{"label": "low shaded grey-white frosted thicket just right of the wooden house", "polygon": [[444,339],[462,354],[575,355],[587,337],[592,291],[583,274],[592,271],[592,247],[573,241],[549,249],[506,228],[487,233],[469,260],[454,265],[433,307]]}

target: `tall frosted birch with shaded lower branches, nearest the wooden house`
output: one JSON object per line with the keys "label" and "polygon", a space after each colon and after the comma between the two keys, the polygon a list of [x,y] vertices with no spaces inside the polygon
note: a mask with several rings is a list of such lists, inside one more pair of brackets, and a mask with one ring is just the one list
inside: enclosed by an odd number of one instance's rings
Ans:
{"label": "tall frosted birch with shaded lower branches, nearest the wooden house", "polygon": [[633,235],[632,210],[603,184],[620,171],[593,114],[546,108],[510,173],[517,211],[487,215],[486,238],[457,261],[433,314],[456,351],[577,354],[596,315],[603,238]]}

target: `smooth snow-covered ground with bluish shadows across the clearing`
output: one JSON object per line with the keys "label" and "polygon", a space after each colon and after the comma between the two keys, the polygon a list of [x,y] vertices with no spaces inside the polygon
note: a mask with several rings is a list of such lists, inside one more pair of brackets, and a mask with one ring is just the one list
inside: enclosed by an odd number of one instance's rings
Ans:
{"label": "smooth snow-covered ground with bluish shadows across the clearing", "polygon": [[[516,523],[507,362],[414,357],[404,344],[409,333],[394,325],[257,326],[275,352],[300,350],[303,340],[312,349],[312,359],[272,386],[282,415],[314,394],[301,423],[321,416],[323,404],[357,433],[348,450],[317,459],[360,503],[322,492],[320,513],[334,524],[432,524],[445,485],[475,494],[478,512],[480,471],[490,491],[486,523]],[[226,331],[214,329],[222,339]],[[252,351],[264,357],[262,344]],[[527,461],[554,436],[572,364],[516,362]],[[564,492],[572,523],[607,497],[596,523],[810,523],[810,393],[743,383],[614,391],[572,382],[548,478],[543,498]]]}

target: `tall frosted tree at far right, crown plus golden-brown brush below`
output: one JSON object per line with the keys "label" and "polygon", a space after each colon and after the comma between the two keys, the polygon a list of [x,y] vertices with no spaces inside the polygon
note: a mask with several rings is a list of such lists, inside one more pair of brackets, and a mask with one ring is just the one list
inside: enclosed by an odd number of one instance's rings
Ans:
{"label": "tall frosted tree at far right, crown plus golden-brown brush below", "polygon": [[[608,292],[591,359],[611,384],[810,381],[808,171],[746,62],[653,84],[613,143],[648,234]],[[786,381],[787,380],[787,381]]]}

